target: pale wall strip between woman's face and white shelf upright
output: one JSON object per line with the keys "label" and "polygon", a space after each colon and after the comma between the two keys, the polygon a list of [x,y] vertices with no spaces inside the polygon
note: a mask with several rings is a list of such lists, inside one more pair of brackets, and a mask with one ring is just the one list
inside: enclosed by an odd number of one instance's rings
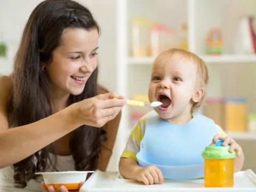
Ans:
{"label": "pale wall strip between woman's face and white shelf upright", "polygon": [[116,0],[79,0],[90,9],[101,28],[99,83],[116,91]]}

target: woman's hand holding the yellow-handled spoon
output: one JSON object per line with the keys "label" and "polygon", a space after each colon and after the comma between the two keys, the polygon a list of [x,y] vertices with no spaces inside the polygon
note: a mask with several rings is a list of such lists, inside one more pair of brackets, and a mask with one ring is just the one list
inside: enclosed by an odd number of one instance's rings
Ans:
{"label": "woman's hand holding the yellow-handled spoon", "polygon": [[[118,98],[118,99],[113,99]],[[99,94],[74,103],[73,116],[81,125],[102,127],[114,119],[125,105],[124,97],[115,93]]]}

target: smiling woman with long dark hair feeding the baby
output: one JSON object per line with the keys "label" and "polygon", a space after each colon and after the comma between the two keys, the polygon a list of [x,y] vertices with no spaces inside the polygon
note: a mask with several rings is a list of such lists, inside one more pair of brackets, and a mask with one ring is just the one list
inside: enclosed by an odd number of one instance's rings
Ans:
{"label": "smiling woman with long dark hair feeding the baby", "polygon": [[13,73],[0,77],[0,190],[41,191],[35,172],[106,169],[125,101],[97,85],[98,39],[76,2],[31,13]]}

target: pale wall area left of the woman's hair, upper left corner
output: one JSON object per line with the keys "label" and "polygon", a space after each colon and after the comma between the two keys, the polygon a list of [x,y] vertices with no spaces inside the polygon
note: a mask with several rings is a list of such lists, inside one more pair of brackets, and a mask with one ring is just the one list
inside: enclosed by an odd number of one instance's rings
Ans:
{"label": "pale wall area left of the woman's hair, upper left corner", "polygon": [[7,58],[0,58],[0,74],[11,73],[13,57],[17,51],[23,27],[29,14],[39,2],[41,0],[0,1],[0,42],[7,45]]}

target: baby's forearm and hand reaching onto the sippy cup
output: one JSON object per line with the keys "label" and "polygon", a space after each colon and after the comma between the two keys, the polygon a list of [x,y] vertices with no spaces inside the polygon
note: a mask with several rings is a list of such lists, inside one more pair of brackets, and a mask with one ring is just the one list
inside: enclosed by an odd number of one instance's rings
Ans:
{"label": "baby's forearm and hand reaching onto the sippy cup", "polygon": [[221,140],[223,139],[223,143],[222,146],[227,146],[228,144],[230,145],[230,149],[229,152],[232,153],[233,151],[236,151],[236,157],[234,159],[234,172],[238,172],[241,171],[243,165],[244,165],[244,153],[243,150],[241,148],[241,146],[238,145],[238,143],[223,134],[217,134],[213,137],[212,139],[212,143],[216,142],[217,140]]}

